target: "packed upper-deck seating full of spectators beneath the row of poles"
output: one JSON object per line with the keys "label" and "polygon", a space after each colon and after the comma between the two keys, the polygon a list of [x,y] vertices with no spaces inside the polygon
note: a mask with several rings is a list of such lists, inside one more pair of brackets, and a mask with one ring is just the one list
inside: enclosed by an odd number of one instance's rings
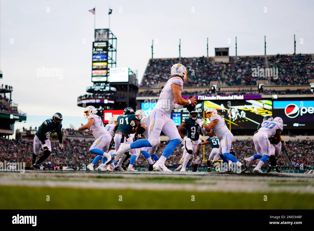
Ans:
{"label": "packed upper-deck seating full of spectators beneath the row of poles", "polygon": [[[175,63],[183,63],[188,81],[185,87],[209,86],[210,81],[219,81],[229,86],[257,85],[257,80],[268,81],[266,76],[252,76],[252,68],[278,68],[279,78],[270,77],[268,84],[300,85],[314,79],[314,65],[310,54],[274,56],[230,57],[229,63],[215,62],[210,57],[150,59],[143,75],[141,88],[156,87],[169,78],[169,69]],[[266,62],[267,61],[267,62]]]}

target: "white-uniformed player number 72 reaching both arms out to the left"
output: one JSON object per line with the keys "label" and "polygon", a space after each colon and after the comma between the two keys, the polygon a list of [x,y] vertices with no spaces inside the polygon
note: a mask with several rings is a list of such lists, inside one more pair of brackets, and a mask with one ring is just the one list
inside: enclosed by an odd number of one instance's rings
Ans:
{"label": "white-uniformed player number 72 reaching both arms out to the left", "polygon": [[[87,124],[79,128],[76,128],[73,124],[70,124],[70,127],[73,130],[85,131],[89,135],[94,135],[96,140],[90,146],[89,151],[93,154],[106,157],[107,158],[107,161],[105,162],[106,164],[111,162],[114,156],[109,155],[105,151],[108,151],[112,137],[106,131],[101,118],[98,115],[96,115],[96,108],[94,106],[86,107],[84,110],[84,117],[88,119]],[[89,128],[90,130],[88,130]],[[94,164],[91,163],[87,165],[87,168],[91,171],[94,171]]]}

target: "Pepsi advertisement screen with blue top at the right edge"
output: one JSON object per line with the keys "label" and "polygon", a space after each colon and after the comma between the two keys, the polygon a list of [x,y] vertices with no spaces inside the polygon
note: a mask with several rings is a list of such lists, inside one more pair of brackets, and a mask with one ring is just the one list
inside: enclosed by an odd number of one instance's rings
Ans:
{"label": "Pepsi advertisement screen with blue top at the right edge", "polygon": [[273,117],[284,120],[284,128],[314,128],[314,101],[273,101]]}

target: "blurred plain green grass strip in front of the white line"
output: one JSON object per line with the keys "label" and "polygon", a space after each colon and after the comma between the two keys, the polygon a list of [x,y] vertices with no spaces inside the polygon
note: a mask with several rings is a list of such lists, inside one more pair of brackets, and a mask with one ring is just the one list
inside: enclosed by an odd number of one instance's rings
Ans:
{"label": "blurred plain green grass strip in front of the white line", "polygon": [[[158,187],[158,185],[156,185]],[[46,201],[46,196],[50,201]],[[122,195],[122,201],[119,201]],[[192,195],[195,201],[191,201]],[[267,201],[264,201],[267,195]],[[1,186],[1,209],[314,209],[312,194]]]}

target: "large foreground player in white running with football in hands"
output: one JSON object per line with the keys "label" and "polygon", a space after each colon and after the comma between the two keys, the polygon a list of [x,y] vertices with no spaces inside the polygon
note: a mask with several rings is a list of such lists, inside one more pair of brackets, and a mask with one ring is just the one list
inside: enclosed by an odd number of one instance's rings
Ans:
{"label": "large foreground player in white running with football in hands", "polygon": [[180,144],[181,137],[176,129],[175,122],[169,117],[173,108],[180,109],[185,105],[196,105],[196,99],[193,96],[189,99],[183,99],[181,96],[183,83],[187,81],[187,69],[180,63],[171,67],[171,75],[166,82],[164,88],[160,92],[159,100],[151,111],[148,118],[144,120],[144,124],[149,129],[149,137],[147,139],[136,140],[132,144],[122,143],[116,152],[117,157],[121,157],[126,151],[133,148],[153,147],[157,144],[161,131],[169,137],[170,142],[165,147],[162,156],[153,165],[158,171],[171,171],[165,166],[166,159]]}

